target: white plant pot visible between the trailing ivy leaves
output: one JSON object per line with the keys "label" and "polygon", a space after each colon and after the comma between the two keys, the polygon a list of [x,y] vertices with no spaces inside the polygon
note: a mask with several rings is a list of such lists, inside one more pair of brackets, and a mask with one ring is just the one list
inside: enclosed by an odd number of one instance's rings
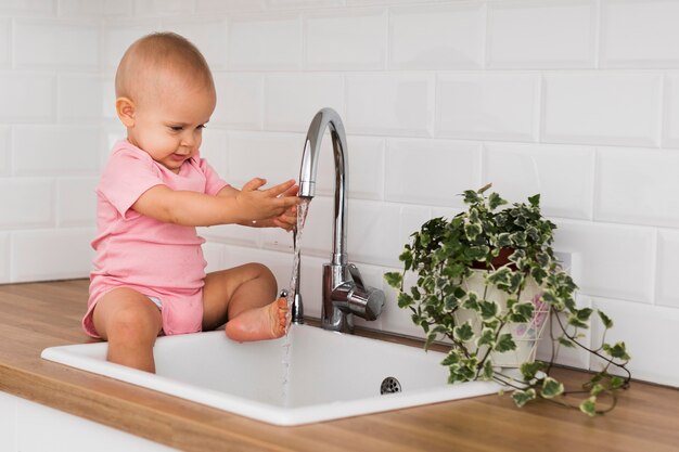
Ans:
{"label": "white plant pot visible between the trailing ivy leaves", "polygon": [[[495,288],[492,285],[486,286],[488,271],[473,270],[473,272],[472,276],[463,282],[465,285],[464,289],[467,293],[475,292],[479,298],[496,301],[500,306],[501,313],[507,312],[507,299],[509,295]],[[484,296],[486,287],[487,292]],[[496,367],[520,367],[521,364],[525,362],[535,361],[538,340],[542,335],[549,317],[549,305],[542,300],[542,290],[533,277],[527,279],[526,286],[521,293],[520,301],[533,302],[535,306],[533,319],[527,323],[508,323],[502,327],[500,334],[510,333],[514,343],[516,343],[516,349],[502,353],[491,352],[490,360]],[[481,334],[482,320],[477,312],[460,308],[457,310],[454,317],[458,325],[470,321],[474,330],[474,335],[478,336]],[[469,344],[467,346],[472,351],[476,350],[474,344]],[[482,349],[478,350],[478,356],[485,356],[487,346],[482,347]]]}

